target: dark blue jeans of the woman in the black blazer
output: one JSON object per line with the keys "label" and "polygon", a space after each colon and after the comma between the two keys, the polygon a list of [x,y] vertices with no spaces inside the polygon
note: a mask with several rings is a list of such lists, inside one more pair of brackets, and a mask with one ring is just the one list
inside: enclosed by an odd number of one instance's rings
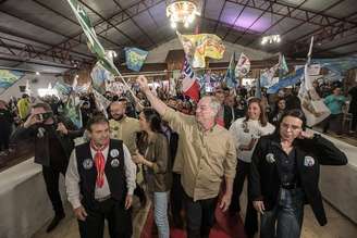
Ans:
{"label": "dark blue jeans of the woman in the black blazer", "polygon": [[303,225],[303,190],[299,188],[292,190],[281,188],[276,205],[271,211],[266,211],[260,216],[260,237],[299,238]]}

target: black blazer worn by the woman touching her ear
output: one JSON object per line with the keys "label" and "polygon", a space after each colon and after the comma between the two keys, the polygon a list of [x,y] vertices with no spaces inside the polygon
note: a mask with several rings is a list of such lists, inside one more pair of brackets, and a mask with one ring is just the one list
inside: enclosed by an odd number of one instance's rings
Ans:
{"label": "black blazer worn by the woman touching her ear", "polygon": [[[325,225],[327,217],[319,189],[320,165],[345,165],[347,158],[331,141],[320,135],[316,135],[312,139],[296,139],[294,147],[297,156],[297,175],[305,192],[305,202],[311,205],[319,224]],[[253,153],[249,196],[253,201],[262,200],[267,211],[272,210],[276,203],[281,186],[278,172],[282,153],[284,151],[276,134],[262,136]],[[267,156],[267,154],[269,155]],[[273,162],[269,160],[272,154]],[[311,159],[313,163],[309,164]]]}

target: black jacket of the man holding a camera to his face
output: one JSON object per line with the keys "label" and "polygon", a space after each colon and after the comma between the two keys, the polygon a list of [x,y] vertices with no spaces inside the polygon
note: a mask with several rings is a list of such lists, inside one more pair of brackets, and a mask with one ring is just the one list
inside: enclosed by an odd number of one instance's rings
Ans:
{"label": "black jacket of the man holding a camera to his face", "polygon": [[[62,122],[67,128],[69,134],[62,135],[59,131],[56,131],[56,136],[61,143],[61,147],[64,151],[64,163],[67,164],[71,152],[74,148],[73,139],[83,135],[83,130],[74,130],[75,126],[67,120],[56,117],[53,126],[57,127],[57,124]],[[45,131],[42,136],[39,135],[40,125],[35,124],[28,128],[20,126],[13,134],[11,140],[19,141],[23,139],[34,139],[35,145],[35,163],[50,166],[50,148],[49,148],[49,137]]]}

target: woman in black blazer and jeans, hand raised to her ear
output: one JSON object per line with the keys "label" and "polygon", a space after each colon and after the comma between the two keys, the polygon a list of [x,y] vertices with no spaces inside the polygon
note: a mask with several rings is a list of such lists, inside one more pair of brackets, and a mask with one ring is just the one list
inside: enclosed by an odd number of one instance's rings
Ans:
{"label": "woman in black blazer and jeans, hand raised to her ear", "polygon": [[253,153],[249,195],[261,214],[261,238],[300,237],[305,203],[320,225],[327,224],[320,164],[344,165],[347,158],[331,141],[305,131],[305,124],[300,110],[287,111],[274,134],[261,137]]}

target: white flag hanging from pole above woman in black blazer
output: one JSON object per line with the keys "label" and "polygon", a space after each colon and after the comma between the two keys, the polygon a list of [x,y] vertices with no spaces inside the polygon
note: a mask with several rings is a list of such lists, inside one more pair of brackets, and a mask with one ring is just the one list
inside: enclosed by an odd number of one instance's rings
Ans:
{"label": "white flag hanging from pole above woman in black blazer", "polygon": [[323,100],[316,92],[309,74],[312,43],[313,43],[313,37],[311,37],[309,53],[307,57],[307,62],[304,67],[304,80],[301,82],[300,90],[298,92],[298,97],[301,102],[301,110],[306,116],[306,124],[308,126],[313,126],[322,122],[331,113],[328,107],[323,103]]}

